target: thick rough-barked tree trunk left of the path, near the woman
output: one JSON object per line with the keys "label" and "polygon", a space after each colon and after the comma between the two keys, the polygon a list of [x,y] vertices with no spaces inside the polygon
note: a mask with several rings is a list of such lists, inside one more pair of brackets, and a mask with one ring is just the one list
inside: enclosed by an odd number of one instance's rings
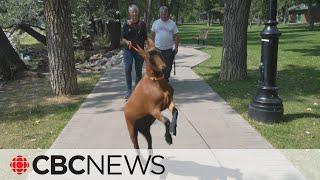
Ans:
{"label": "thick rough-barked tree trunk left of the path, near the woman", "polygon": [[55,95],[78,93],[69,1],[44,3],[50,81]]}

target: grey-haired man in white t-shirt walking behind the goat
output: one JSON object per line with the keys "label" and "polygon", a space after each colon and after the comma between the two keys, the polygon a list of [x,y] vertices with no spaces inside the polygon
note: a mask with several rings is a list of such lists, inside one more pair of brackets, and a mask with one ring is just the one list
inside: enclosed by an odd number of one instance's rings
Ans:
{"label": "grey-haired man in white t-shirt walking behind the goat", "polygon": [[179,30],[176,23],[169,19],[169,10],[166,6],[160,7],[159,14],[160,19],[152,24],[151,38],[154,40],[156,48],[161,51],[161,55],[164,58],[167,66],[164,69],[164,78],[169,82],[174,56],[178,53]]}

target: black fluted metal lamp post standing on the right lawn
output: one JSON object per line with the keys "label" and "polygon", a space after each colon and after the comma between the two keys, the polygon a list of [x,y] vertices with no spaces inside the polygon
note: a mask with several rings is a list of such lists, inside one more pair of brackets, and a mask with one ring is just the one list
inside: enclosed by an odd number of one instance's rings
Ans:
{"label": "black fluted metal lamp post standing on the right lawn", "polygon": [[283,115],[282,100],[276,86],[278,44],[281,33],[277,28],[277,0],[269,0],[269,17],[261,32],[260,80],[256,96],[249,105],[249,117],[265,123],[273,123]]}

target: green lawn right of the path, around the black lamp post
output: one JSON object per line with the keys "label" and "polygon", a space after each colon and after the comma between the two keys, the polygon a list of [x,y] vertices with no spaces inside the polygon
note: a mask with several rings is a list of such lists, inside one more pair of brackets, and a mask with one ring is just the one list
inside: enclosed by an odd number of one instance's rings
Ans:
{"label": "green lawn right of the path, around the black lamp post", "polygon": [[[253,26],[248,32],[248,79],[219,81],[222,52],[222,26],[210,27],[209,40],[202,51],[211,58],[195,68],[212,88],[253,125],[276,148],[320,148],[320,32],[308,32],[302,26],[279,25],[277,85],[283,100],[284,117],[267,125],[248,118],[248,104],[255,95],[259,79],[260,31]],[[180,26],[181,42],[195,43],[192,37],[205,25]]]}

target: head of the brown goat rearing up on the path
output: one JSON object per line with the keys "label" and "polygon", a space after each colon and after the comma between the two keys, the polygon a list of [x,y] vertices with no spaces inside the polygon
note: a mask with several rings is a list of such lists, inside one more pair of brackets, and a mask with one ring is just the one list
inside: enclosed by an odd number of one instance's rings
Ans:
{"label": "head of the brown goat rearing up on the path", "polygon": [[154,47],[154,43],[151,39],[148,39],[147,50],[143,50],[139,46],[136,47],[135,50],[143,57],[146,65],[153,71],[161,72],[166,67],[160,51]]}

